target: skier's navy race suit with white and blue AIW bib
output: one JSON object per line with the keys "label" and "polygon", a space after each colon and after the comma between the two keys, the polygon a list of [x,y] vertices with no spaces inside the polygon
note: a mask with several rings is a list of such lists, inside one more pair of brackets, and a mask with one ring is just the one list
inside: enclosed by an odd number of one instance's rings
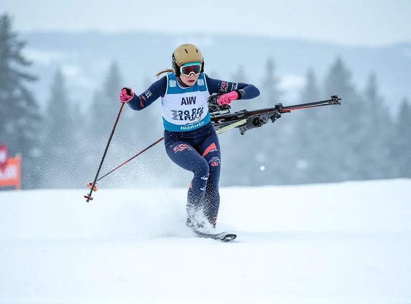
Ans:
{"label": "skier's navy race suit with white and blue AIW bib", "polygon": [[161,98],[164,145],[167,156],[178,166],[193,172],[187,196],[187,211],[202,210],[215,226],[220,195],[221,151],[208,111],[207,99],[213,93],[239,91],[240,99],[252,99],[259,90],[250,84],[209,78],[200,73],[195,85],[188,87],[168,73],[128,102],[133,110],[142,110]]}

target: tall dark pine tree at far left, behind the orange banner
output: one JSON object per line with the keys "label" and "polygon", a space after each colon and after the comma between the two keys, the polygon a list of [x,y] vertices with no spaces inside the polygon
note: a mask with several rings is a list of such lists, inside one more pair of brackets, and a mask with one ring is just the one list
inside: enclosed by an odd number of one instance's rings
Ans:
{"label": "tall dark pine tree at far left, behind the orange banner", "polygon": [[0,141],[9,154],[22,155],[22,187],[39,186],[42,148],[39,131],[42,117],[32,92],[25,83],[37,78],[26,72],[32,65],[22,54],[26,42],[17,39],[11,17],[0,15]]}

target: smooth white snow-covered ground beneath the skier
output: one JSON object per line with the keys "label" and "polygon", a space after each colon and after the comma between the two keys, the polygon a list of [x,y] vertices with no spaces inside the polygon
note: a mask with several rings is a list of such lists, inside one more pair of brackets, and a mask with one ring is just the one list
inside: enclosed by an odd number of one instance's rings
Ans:
{"label": "smooth white snow-covered ground beneath the skier", "polygon": [[186,189],[0,192],[0,303],[411,303],[411,181],[221,189],[217,230]]}

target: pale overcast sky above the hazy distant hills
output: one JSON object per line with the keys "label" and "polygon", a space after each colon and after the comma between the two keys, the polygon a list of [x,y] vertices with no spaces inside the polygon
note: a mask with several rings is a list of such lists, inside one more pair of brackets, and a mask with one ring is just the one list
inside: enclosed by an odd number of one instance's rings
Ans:
{"label": "pale overcast sky above the hazy distant hills", "polygon": [[4,12],[12,14],[18,31],[202,31],[367,46],[411,42],[411,0],[0,0]]}

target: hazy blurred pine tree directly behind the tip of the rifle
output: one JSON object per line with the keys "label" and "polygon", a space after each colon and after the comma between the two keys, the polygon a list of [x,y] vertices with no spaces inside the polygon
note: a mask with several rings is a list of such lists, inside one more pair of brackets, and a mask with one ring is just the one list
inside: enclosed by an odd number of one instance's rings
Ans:
{"label": "hazy blurred pine tree directly behind the tip of the rifle", "polygon": [[363,139],[366,137],[365,103],[351,83],[351,72],[337,58],[326,75],[324,91],[328,98],[339,95],[340,106],[328,106],[324,115],[324,181],[363,179]]}

